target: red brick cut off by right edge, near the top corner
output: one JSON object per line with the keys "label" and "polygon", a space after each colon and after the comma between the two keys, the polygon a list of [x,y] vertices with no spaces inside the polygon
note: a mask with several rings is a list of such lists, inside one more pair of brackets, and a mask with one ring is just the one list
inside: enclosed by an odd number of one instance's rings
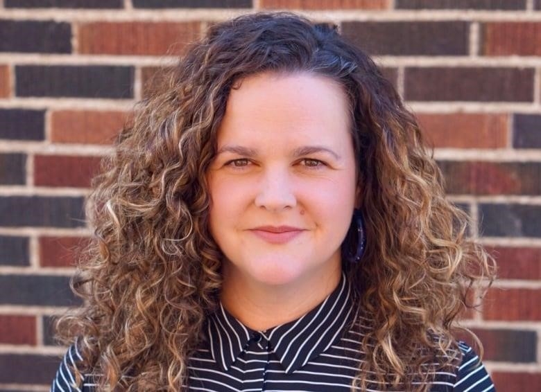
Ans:
{"label": "red brick cut off by right edge, near the top corner", "polygon": [[541,22],[487,23],[482,36],[485,55],[541,55]]}

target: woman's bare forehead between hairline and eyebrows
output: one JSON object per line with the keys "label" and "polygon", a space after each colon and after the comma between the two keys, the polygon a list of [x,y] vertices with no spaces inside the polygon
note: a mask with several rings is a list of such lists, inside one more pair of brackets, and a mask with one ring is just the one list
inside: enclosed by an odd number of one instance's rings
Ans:
{"label": "woman's bare forehead between hairline and eyebrows", "polygon": [[231,139],[343,143],[349,128],[349,104],[338,82],[314,73],[261,73],[231,90],[218,145]]}

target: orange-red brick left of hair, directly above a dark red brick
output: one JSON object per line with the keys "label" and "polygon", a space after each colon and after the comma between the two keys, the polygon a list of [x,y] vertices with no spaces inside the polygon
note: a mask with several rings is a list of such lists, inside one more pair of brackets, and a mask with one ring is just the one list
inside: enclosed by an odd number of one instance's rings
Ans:
{"label": "orange-red brick left of hair, directly above a dark red brick", "polygon": [[51,115],[51,141],[55,143],[111,144],[119,134],[125,112],[62,110]]}

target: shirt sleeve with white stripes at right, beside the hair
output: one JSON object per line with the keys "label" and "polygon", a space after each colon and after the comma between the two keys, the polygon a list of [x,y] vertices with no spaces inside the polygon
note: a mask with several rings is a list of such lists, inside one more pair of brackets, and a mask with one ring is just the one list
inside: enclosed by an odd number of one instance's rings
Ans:
{"label": "shirt sleeve with white stripes at right, beside the hair", "polygon": [[459,342],[462,350],[462,363],[458,367],[454,392],[495,392],[496,389],[485,366],[473,348]]}

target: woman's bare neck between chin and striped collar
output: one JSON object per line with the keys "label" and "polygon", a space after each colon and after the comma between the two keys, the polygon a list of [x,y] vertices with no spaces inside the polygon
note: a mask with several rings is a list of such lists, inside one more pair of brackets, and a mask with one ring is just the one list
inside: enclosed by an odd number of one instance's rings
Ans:
{"label": "woman's bare neck between chin and striped collar", "polygon": [[332,273],[286,285],[265,285],[225,269],[220,300],[225,309],[252,330],[264,331],[302,317],[331,294],[341,278]]}

